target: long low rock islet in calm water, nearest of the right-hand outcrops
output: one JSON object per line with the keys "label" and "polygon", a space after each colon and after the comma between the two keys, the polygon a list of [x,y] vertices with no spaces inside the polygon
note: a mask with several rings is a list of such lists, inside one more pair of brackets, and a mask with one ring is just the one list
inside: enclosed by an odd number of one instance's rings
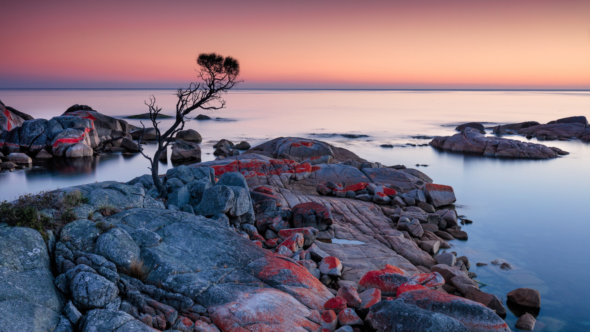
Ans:
{"label": "long low rock islet in calm water, nearest of the right-hand outcrops", "polygon": [[557,158],[568,152],[543,144],[521,142],[516,139],[485,136],[477,129],[463,128],[463,132],[453,136],[438,136],[429,143],[432,147],[454,152],[468,152],[490,157],[548,159]]}

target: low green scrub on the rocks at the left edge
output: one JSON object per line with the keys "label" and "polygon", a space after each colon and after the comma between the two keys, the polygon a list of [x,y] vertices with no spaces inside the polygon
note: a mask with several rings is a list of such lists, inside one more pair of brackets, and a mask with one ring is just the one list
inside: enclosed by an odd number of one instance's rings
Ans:
{"label": "low green scrub on the rocks at the left edge", "polygon": [[62,226],[77,219],[74,207],[88,203],[79,190],[69,193],[42,191],[26,194],[12,203],[0,202],[0,223],[8,226],[30,227],[47,239],[46,230],[58,232]]}

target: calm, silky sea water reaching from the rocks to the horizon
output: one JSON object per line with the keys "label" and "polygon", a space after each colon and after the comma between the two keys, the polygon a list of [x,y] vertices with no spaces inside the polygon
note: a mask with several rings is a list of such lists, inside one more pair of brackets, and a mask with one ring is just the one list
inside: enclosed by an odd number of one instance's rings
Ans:
{"label": "calm, silky sea water reaching from the rocks to the horizon", "polygon": [[[76,103],[125,118],[147,112],[143,102],[150,95],[156,97],[163,113],[172,115],[173,92],[4,89],[0,99],[35,118],[61,115]],[[469,239],[451,241],[453,249],[448,250],[470,259],[471,271],[486,284],[481,290],[506,303],[506,294],[512,289],[538,289],[542,307],[535,331],[590,330],[590,259],[586,253],[590,145],[542,142],[571,152],[553,160],[505,160],[406,145],[430,141],[412,136],[453,135],[454,127],[464,122],[493,126],[590,116],[590,92],[237,90],[226,100],[226,109],[204,112],[222,119],[193,120],[187,125],[203,136],[203,161],[214,160],[212,145],[222,138],[234,143],[248,141],[254,147],[279,136],[300,136],[330,142],[385,165],[426,164],[415,168],[435,183],[453,186],[458,213],[473,220],[463,226]],[[140,126],[139,120],[126,121]],[[162,120],[162,126],[168,123],[171,120]],[[352,139],[342,134],[368,137]],[[527,141],[521,136],[514,138]],[[381,144],[395,147],[381,148]],[[152,152],[153,145],[147,145],[146,151]],[[174,165],[160,163],[160,173]],[[139,154],[35,162],[34,166],[41,168],[0,173],[0,198],[94,181],[128,181],[148,172],[148,161]],[[500,270],[490,263],[493,259],[504,259],[514,269]],[[489,265],[476,266],[477,262]],[[513,330],[516,320],[516,311],[509,308],[506,322]]]}

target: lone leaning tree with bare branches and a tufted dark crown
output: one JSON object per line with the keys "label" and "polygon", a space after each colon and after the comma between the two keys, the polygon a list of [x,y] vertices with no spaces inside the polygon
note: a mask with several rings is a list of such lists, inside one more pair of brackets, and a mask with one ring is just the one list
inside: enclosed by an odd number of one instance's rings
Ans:
{"label": "lone leaning tree with bare branches and a tufted dark crown", "polygon": [[[172,142],[173,137],[179,131],[184,129],[185,123],[190,121],[188,114],[195,109],[217,110],[225,107],[225,100],[223,95],[227,93],[236,84],[243,82],[238,76],[240,75],[240,63],[236,58],[224,57],[217,53],[201,53],[196,58],[196,64],[199,65],[198,73],[199,82],[191,82],[188,88],[179,88],[176,90],[176,119],[174,124],[168,128],[163,134],[158,127],[159,123],[156,121],[158,114],[162,110],[156,105],[156,97],[153,95],[149,98],[149,103],[145,102],[149,108],[149,117],[152,121],[153,128],[156,131],[156,140],[158,141],[158,149],[156,149],[153,158],[144,154],[140,148],[143,157],[148,158],[152,171],[153,183],[159,192],[159,197],[166,196],[166,188],[162,180],[158,176],[158,162],[162,153],[167,151],[168,145]],[[145,133],[145,125],[143,124],[143,132]],[[143,139],[143,134],[139,138],[140,143]]]}

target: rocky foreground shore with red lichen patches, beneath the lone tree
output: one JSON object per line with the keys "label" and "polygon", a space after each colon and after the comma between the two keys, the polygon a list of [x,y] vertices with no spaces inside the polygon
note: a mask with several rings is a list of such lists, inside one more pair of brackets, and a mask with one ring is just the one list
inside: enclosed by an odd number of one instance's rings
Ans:
{"label": "rocky foreground shore with red lichen patches, beneath the lone tree", "polygon": [[510,331],[441,252],[468,237],[453,188],[313,139],[220,150],[162,175],[164,200],[143,175],[54,193],[81,198],[42,234],[2,224],[0,331]]}

